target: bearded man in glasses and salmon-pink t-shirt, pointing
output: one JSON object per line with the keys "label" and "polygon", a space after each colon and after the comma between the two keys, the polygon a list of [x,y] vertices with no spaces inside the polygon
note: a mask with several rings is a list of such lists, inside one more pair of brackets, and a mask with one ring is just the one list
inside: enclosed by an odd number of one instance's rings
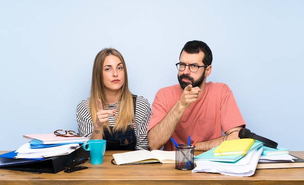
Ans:
{"label": "bearded man in glasses and salmon-pink t-shirt, pointing", "polygon": [[[223,83],[206,83],[211,73],[212,52],[202,41],[189,41],[175,64],[179,84],[158,90],[148,123],[151,150],[175,150],[178,144],[198,138],[195,150],[208,151],[224,140],[238,139],[245,122],[230,88]],[[223,135],[224,133],[224,135]]]}

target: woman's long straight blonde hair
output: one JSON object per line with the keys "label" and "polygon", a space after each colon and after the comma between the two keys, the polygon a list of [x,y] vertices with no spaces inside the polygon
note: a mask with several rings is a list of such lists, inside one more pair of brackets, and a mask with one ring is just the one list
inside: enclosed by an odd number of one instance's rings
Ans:
{"label": "woman's long straight blonde hair", "polygon": [[[118,101],[118,105],[116,107],[116,111],[118,110],[118,114],[115,115],[115,125],[113,128],[113,132],[122,131],[125,132],[128,124],[135,121],[134,116],[134,105],[132,94],[128,87],[128,75],[127,75],[127,67],[122,55],[113,48],[105,48],[101,50],[94,61],[93,72],[92,72],[92,84],[91,84],[91,92],[90,92],[90,113],[93,124],[96,122],[96,114],[98,111],[98,100],[100,99],[102,102],[103,109],[107,109],[104,105],[107,104],[106,95],[104,91],[104,84],[102,81],[102,69],[105,57],[108,55],[114,55],[119,58],[121,63],[123,64],[124,69],[124,84],[121,87],[121,95],[120,101]],[[109,124],[103,124],[105,128],[110,130]],[[110,132],[111,133],[111,132]]]}

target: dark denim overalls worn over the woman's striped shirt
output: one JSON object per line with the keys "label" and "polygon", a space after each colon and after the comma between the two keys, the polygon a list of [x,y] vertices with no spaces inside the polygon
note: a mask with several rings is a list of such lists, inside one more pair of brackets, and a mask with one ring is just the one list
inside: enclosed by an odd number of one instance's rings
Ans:
{"label": "dark denim overalls worn over the woman's striped shirt", "polygon": [[[135,114],[135,103],[136,96],[133,95],[133,104],[134,104],[134,114]],[[113,131],[113,127],[110,127]],[[125,133],[118,131],[116,133],[109,133],[107,129],[103,130],[104,136],[103,139],[107,141],[106,150],[115,150],[115,151],[134,151],[136,145],[136,136],[134,131],[134,125],[128,125],[128,128]]]}

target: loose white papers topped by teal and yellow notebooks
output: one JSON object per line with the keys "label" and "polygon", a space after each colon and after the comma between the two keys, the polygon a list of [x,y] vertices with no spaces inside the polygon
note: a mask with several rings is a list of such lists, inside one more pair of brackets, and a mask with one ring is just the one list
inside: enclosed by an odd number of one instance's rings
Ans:
{"label": "loose white papers topped by teal and yellow notebooks", "polygon": [[192,172],[212,172],[231,176],[252,176],[264,143],[251,139],[227,140],[217,148],[194,157]]}

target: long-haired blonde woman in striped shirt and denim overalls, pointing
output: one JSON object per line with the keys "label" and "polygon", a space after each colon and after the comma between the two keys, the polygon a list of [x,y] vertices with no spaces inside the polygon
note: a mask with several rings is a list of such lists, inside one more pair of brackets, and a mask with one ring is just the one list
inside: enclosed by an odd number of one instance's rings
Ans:
{"label": "long-haired blonde woman in striped shirt and denim overalls, pointing", "polygon": [[131,94],[122,55],[101,50],[94,61],[90,97],[76,110],[78,131],[90,139],[107,141],[106,150],[149,150],[147,99]]}

